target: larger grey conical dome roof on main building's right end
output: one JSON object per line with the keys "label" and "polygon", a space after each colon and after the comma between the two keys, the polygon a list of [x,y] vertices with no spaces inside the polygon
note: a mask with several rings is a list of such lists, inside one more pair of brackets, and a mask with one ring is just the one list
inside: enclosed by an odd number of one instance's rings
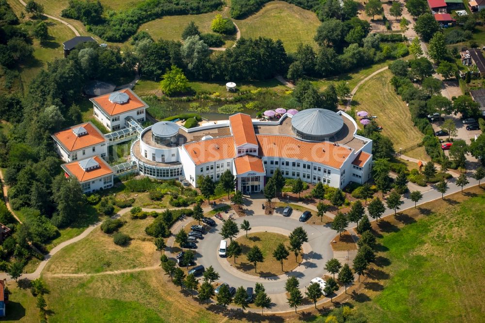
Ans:
{"label": "larger grey conical dome roof on main building's right end", "polygon": [[343,127],[342,117],[326,109],[306,109],[291,118],[291,127],[309,136],[331,136]]}

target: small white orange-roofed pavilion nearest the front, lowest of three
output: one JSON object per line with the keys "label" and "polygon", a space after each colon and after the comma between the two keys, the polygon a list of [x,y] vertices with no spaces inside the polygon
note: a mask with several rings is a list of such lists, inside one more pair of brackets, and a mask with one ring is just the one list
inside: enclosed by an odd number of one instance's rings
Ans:
{"label": "small white orange-roofed pavilion nearest the front, lowest of three", "polygon": [[113,169],[99,156],[71,161],[62,164],[61,167],[65,171],[65,177],[74,176],[79,180],[83,193],[113,187]]}

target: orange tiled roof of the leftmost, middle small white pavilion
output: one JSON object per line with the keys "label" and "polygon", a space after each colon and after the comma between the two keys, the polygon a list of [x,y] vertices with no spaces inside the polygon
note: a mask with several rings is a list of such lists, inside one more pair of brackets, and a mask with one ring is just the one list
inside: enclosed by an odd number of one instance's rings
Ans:
{"label": "orange tiled roof of the leftmost, middle small white pavilion", "polygon": [[[86,129],[87,134],[80,137],[76,136],[72,132],[72,129],[79,127]],[[54,133],[52,136],[54,136],[55,139],[63,144],[69,151],[82,149],[91,145],[97,145],[105,141],[104,135],[89,122],[59,131]]]}

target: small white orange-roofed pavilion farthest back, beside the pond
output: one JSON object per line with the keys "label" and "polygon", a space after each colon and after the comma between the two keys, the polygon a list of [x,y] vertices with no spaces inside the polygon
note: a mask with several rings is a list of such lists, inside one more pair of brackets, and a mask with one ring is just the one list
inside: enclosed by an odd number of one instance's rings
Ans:
{"label": "small white orange-roofed pavilion farthest back, beside the pond", "polygon": [[123,89],[89,99],[94,104],[94,116],[110,131],[127,128],[125,118],[145,121],[148,105],[130,89]]}

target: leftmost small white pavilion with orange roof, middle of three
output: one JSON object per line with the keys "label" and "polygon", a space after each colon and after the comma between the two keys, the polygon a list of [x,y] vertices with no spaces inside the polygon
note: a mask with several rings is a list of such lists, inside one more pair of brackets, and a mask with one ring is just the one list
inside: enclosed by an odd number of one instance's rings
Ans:
{"label": "leftmost small white pavilion with orange roof, middle of three", "polygon": [[108,147],[104,135],[91,122],[81,123],[52,135],[57,152],[65,162],[100,155],[106,158]]}

